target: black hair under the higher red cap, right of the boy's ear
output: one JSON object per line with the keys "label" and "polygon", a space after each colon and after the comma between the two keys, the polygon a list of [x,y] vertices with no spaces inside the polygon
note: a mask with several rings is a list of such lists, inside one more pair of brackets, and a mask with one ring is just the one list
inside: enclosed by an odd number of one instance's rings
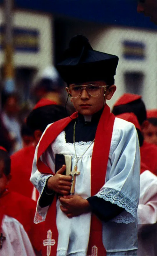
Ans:
{"label": "black hair under the higher red cap, right of the boy's ear", "polygon": [[126,112],[134,113],[140,125],[147,119],[146,107],[144,102],[141,99],[131,101],[124,105],[114,106],[112,109],[112,113],[115,116],[126,113]]}

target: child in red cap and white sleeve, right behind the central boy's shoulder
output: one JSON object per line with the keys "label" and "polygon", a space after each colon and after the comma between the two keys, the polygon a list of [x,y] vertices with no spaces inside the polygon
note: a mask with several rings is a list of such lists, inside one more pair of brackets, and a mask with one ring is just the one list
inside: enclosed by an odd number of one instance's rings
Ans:
{"label": "child in red cap and white sleeve, right behind the central boy's shoulder", "polygon": [[[144,138],[137,117],[133,113],[117,115],[135,125],[140,148]],[[143,160],[143,158],[142,158]],[[138,256],[157,255],[157,177],[141,161],[140,195],[138,205]]]}

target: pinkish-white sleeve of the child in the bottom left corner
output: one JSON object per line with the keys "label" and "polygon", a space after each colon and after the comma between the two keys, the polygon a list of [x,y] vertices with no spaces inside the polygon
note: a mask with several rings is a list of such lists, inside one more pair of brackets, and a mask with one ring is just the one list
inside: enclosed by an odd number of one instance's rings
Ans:
{"label": "pinkish-white sleeve of the child in the bottom left corner", "polygon": [[35,256],[32,244],[20,222],[7,215],[2,222],[2,234],[5,236],[0,255]]}

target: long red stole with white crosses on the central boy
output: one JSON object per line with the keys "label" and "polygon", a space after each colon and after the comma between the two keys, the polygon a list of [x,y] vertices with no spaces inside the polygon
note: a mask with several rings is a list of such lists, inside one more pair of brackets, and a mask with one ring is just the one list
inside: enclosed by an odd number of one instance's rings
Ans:
{"label": "long red stole with white crosses on the central boy", "polygon": [[[77,118],[77,115],[78,113],[75,112],[71,115],[71,118],[75,119]],[[40,156],[56,139],[56,137],[64,130],[64,128],[71,122],[71,118],[66,117],[55,122],[44,133],[39,143],[37,153],[37,167],[40,172],[52,174],[50,168],[47,167],[40,160]],[[110,108],[107,104],[105,104],[104,110],[101,114],[101,118],[96,130],[95,142],[93,146],[91,162],[91,196],[94,196],[105,183],[108,155],[110,150],[114,121],[115,116],[112,113],[110,113]],[[49,227],[52,227],[52,239],[55,239],[56,241],[56,243],[53,246],[51,246],[50,255],[55,256],[58,239],[58,231],[56,227],[56,197],[54,198],[53,203],[49,207],[49,211],[46,218],[46,223],[48,223],[48,225],[46,224],[46,226],[48,227],[47,230],[49,230]],[[98,248],[99,256],[106,255],[106,250],[104,249],[104,246],[102,244],[102,223],[94,214],[92,214],[91,232],[87,252],[88,255],[91,255],[91,250],[94,245]],[[46,248],[44,248],[44,253],[44,255],[46,255]]]}

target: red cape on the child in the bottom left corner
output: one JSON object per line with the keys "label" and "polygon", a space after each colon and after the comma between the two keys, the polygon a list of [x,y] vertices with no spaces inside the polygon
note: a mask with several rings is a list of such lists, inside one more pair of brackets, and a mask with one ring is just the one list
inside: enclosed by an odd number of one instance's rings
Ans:
{"label": "red cape on the child in the bottom left corner", "polygon": [[7,191],[0,197],[0,226],[4,214],[18,220],[29,236],[32,246],[40,251],[43,223],[39,226],[34,224],[35,209],[36,202],[16,192]]}

